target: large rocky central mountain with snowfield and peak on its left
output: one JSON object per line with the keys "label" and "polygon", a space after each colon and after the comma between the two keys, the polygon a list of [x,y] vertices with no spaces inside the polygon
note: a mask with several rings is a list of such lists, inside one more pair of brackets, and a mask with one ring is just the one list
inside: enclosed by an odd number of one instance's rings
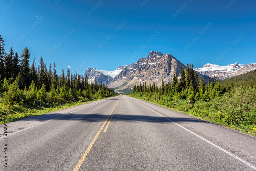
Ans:
{"label": "large rocky central mountain with snowfield and peak on its left", "polygon": [[[162,79],[164,83],[172,82],[176,70],[179,79],[182,67],[186,69],[186,66],[172,55],[151,51],[146,58],[139,58],[138,61],[130,65],[119,66],[114,71],[89,68],[83,77],[87,75],[88,81],[93,82],[96,77],[97,83],[102,81],[116,90],[127,90],[132,89],[140,82],[149,84],[150,81],[154,81],[158,86],[161,86]],[[206,80],[209,78],[200,73],[198,76],[204,77]],[[213,79],[211,78],[211,80]]]}

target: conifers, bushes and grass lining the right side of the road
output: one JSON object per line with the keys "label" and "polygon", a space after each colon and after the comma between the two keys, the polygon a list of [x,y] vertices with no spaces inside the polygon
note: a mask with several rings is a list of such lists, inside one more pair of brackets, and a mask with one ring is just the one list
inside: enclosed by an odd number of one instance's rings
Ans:
{"label": "conifers, bushes and grass lining the right side of the road", "polygon": [[162,81],[159,88],[152,81],[147,85],[140,83],[127,95],[256,135],[256,82],[234,87],[232,80],[221,85],[214,77],[206,85],[205,79],[198,78],[193,64],[187,65],[186,72],[182,68],[180,75],[180,81],[176,72],[173,84],[164,85]]}

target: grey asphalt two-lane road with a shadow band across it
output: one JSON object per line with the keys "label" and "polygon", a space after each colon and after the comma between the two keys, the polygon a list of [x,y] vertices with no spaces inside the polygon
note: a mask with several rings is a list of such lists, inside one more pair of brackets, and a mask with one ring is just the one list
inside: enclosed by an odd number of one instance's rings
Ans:
{"label": "grey asphalt two-lane road with a shadow band across it", "polygon": [[125,95],[3,132],[0,170],[256,170],[255,137]]}

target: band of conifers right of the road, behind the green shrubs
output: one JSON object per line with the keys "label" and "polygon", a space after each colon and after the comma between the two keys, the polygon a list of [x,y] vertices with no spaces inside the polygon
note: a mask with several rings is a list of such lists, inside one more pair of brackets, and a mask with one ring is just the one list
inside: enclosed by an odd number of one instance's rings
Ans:
{"label": "band of conifers right of the road, behind the green shrubs", "polygon": [[150,81],[148,84],[142,82],[142,84],[140,83],[140,85],[133,87],[132,93],[140,93],[141,96],[143,94],[151,94],[155,99],[159,99],[162,95],[168,96],[170,99],[182,98],[193,105],[197,100],[211,100],[234,89],[233,83],[220,85],[215,76],[212,82],[209,77],[208,85],[206,85],[205,78],[198,77],[197,71],[194,70],[194,66],[191,63],[187,63],[186,70],[182,67],[179,80],[178,77],[179,75],[176,71],[173,76],[173,83],[164,84],[162,80],[162,85],[159,87],[155,84],[155,81],[153,83]]}

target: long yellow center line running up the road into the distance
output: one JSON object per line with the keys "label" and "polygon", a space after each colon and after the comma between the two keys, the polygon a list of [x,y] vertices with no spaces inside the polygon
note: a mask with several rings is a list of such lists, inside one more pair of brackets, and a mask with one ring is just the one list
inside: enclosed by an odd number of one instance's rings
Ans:
{"label": "long yellow center line running up the road into the distance", "polygon": [[[122,98],[122,96],[121,96],[121,98]],[[120,99],[121,99],[121,98],[120,98]],[[120,99],[119,99],[119,101],[120,101]],[[118,101],[118,102],[119,102],[119,101]],[[116,103],[116,105],[118,104],[118,102]],[[116,105],[115,105],[115,107],[116,107]],[[114,107],[114,109],[115,109],[115,107]],[[114,109],[112,110],[112,112],[114,111]],[[110,117],[110,115],[112,114],[112,112],[109,114],[108,118],[105,120],[105,122],[104,122],[103,125],[101,126],[100,130],[98,131],[98,133],[97,133],[97,134],[95,135],[95,137],[93,138],[91,144],[90,144],[89,147],[86,149],[86,151],[84,152],[83,156],[80,158],[79,162],[77,163],[76,167],[73,169],[73,171],[77,171],[77,170],[79,170],[79,168],[81,167],[81,165],[82,165],[84,159],[86,158],[86,156],[87,156],[88,153],[90,152],[90,150],[91,150],[93,144],[95,143],[95,141],[97,140],[98,136],[100,135],[100,133],[101,133],[103,127],[105,126],[106,122],[109,120],[109,117]],[[112,116],[113,116],[113,115],[112,115]],[[111,118],[112,118],[112,117],[111,117]],[[110,119],[110,120],[111,120],[111,119]]]}

